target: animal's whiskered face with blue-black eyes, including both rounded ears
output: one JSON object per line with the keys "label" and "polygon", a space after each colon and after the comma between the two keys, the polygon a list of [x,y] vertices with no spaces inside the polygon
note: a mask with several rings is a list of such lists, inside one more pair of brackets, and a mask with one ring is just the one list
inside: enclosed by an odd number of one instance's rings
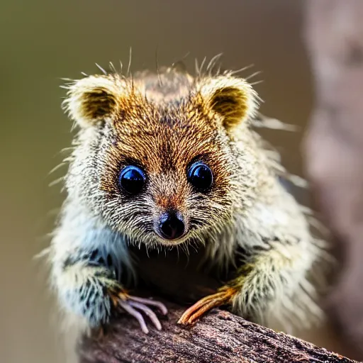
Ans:
{"label": "animal's whiskered face with blue-black eyes, including both rounded ears", "polygon": [[70,86],[66,105],[82,130],[69,193],[135,242],[203,240],[231,220],[250,172],[230,133],[255,94],[229,77],[191,82],[169,101],[153,91],[117,75]]}

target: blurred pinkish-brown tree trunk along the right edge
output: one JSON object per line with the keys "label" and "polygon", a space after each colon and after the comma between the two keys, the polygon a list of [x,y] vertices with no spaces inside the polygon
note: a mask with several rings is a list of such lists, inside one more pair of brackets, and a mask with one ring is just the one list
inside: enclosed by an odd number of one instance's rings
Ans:
{"label": "blurred pinkish-brown tree trunk along the right edge", "polygon": [[328,308],[363,354],[363,1],[310,0],[306,11],[315,77],[306,170],[342,257]]}

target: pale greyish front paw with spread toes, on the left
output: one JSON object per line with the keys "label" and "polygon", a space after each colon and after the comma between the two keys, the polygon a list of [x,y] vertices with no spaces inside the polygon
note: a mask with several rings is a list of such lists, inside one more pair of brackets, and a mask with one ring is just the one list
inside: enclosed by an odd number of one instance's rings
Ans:
{"label": "pale greyish front paw with spread toes, on the left", "polygon": [[150,298],[130,296],[125,292],[120,292],[111,296],[111,300],[116,308],[122,308],[123,311],[132,315],[136,320],[138,320],[140,328],[144,333],[149,333],[149,330],[147,329],[143,313],[147,315],[157,330],[162,329],[159,318],[157,318],[157,315],[154,313],[154,311],[149,308],[149,306],[153,306],[157,308],[160,313],[162,313],[162,315],[167,315],[167,307],[164,306],[163,303],[160,303],[160,301],[155,301]]}

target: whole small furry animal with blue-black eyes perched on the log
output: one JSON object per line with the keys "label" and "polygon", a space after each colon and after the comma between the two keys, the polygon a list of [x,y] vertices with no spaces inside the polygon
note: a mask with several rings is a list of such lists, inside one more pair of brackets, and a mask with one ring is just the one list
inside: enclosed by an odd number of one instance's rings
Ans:
{"label": "whole small furry animal with blue-black eyes perched on the log", "polygon": [[259,97],[245,79],[211,65],[196,77],[178,67],[133,77],[113,69],[67,89],[63,105],[79,132],[50,247],[65,311],[94,328],[121,309],[145,333],[144,315],[161,329],[152,308],[167,308],[122,282],[136,271],[130,246],[193,244],[209,264],[233,267],[233,277],[180,324],[221,305],[267,326],[320,315],[309,278],[320,240],[254,130]]}

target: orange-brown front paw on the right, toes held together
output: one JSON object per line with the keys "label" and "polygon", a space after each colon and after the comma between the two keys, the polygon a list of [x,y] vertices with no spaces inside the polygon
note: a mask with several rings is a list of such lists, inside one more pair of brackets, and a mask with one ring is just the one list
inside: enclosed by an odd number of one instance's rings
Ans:
{"label": "orange-brown front paw on the right, toes held together", "polygon": [[216,294],[208,295],[196,302],[193,306],[187,309],[181,318],[178,320],[178,324],[189,325],[206,313],[212,308],[228,304],[232,301],[233,296],[237,294],[237,290],[232,287],[223,286]]}

